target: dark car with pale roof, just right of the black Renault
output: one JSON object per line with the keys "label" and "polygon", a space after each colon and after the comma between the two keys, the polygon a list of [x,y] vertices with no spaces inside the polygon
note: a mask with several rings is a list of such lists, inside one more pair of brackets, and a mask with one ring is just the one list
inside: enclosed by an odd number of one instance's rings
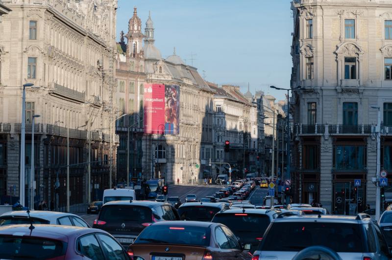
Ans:
{"label": "dark car with pale roof, just right of the black Renault", "polygon": [[225,203],[219,202],[187,202],[178,208],[178,215],[187,221],[211,221],[217,212],[228,208]]}

